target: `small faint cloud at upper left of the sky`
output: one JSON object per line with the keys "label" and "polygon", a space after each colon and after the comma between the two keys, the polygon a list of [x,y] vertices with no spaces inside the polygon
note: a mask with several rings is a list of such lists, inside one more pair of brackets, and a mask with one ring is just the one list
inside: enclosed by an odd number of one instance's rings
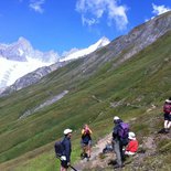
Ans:
{"label": "small faint cloud at upper left of the sky", "polygon": [[35,12],[43,13],[43,4],[45,3],[45,0],[30,0],[29,7],[34,10]]}

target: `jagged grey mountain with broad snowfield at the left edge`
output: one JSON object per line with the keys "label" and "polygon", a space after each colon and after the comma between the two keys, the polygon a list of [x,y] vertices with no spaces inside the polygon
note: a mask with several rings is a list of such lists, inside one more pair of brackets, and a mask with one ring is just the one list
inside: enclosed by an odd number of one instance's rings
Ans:
{"label": "jagged grey mountain with broad snowfield at the left edge", "polygon": [[57,61],[57,53],[34,50],[23,38],[12,44],[0,44],[0,88],[13,84],[18,78],[39,67],[49,66]]}

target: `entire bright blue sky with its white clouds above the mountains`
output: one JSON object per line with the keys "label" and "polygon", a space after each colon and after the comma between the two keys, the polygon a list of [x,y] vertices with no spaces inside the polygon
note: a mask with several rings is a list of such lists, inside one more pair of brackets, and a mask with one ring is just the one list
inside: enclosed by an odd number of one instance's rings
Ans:
{"label": "entire bright blue sky with its white clouds above the mountains", "polygon": [[171,0],[1,0],[0,42],[20,36],[34,49],[87,47],[101,36],[110,41],[171,10]]}

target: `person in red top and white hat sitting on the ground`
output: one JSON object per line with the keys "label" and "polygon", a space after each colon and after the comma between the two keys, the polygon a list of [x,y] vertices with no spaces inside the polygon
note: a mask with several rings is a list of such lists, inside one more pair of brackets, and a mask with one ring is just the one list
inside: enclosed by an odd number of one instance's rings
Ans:
{"label": "person in red top and white hat sitting on the ground", "polygon": [[128,146],[126,148],[125,154],[126,156],[133,156],[136,154],[137,150],[138,150],[138,141],[136,139],[136,135],[135,132],[129,132],[128,133]]}

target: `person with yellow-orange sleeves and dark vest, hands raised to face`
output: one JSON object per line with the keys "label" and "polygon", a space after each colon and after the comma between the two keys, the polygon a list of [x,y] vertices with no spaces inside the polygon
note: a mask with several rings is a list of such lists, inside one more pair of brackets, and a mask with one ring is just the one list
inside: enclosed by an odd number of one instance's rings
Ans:
{"label": "person with yellow-orange sleeves and dark vest, hands raised to face", "polygon": [[82,129],[82,159],[87,158],[88,161],[92,152],[92,130],[88,125],[85,125]]}

